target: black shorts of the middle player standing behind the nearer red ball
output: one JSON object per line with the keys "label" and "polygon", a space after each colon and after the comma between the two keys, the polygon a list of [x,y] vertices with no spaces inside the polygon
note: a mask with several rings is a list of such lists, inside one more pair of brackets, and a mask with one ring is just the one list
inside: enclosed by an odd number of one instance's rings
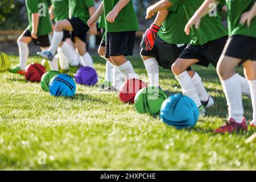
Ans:
{"label": "black shorts of the middle player standing behind the nearer red ball", "polygon": [[136,31],[106,32],[106,57],[132,56]]}

